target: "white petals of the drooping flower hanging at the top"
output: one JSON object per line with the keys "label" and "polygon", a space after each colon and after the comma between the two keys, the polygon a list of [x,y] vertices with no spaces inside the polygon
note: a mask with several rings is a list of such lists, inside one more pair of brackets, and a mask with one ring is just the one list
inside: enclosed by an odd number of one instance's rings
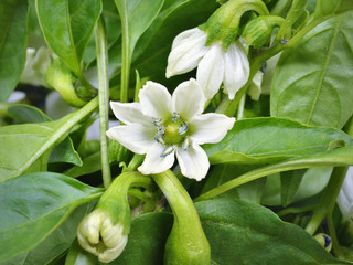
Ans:
{"label": "white petals of the drooping flower hanging at the top", "polygon": [[249,62],[239,40],[225,52],[222,43],[206,46],[207,34],[194,28],[180,33],[173,41],[168,57],[167,78],[197,67],[196,80],[205,96],[212,98],[223,83],[233,99],[249,77]]}

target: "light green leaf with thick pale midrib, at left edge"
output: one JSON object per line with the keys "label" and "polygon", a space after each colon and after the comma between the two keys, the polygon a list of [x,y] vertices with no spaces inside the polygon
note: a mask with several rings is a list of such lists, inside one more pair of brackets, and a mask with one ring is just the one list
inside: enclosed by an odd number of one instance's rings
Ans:
{"label": "light green leaf with thick pale midrib, at left edge", "polygon": [[0,183],[25,172],[96,106],[97,100],[93,99],[85,107],[56,121],[0,127]]}

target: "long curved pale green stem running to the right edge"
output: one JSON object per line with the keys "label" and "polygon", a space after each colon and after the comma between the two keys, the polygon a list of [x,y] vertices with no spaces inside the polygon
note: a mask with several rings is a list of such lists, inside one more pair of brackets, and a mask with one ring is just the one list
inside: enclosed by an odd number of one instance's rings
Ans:
{"label": "long curved pale green stem running to the right edge", "polygon": [[[353,148],[350,148],[352,150]],[[284,162],[274,163],[264,168],[259,168],[253,171],[249,171],[245,174],[242,174],[240,177],[231,180],[228,182],[225,182],[222,186],[218,186],[202,195],[194,199],[194,202],[196,201],[203,201],[212,199],[216,195],[220,195],[228,190],[232,190],[240,184],[247,183],[249,181],[282,172],[282,171],[289,171],[295,169],[303,169],[303,168],[313,168],[313,167],[323,167],[323,166],[350,166],[353,163],[353,157],[346,157],[345,155],[343,158],[340,158],[339,156],[334,156],[335,152],[339,152],[340,149],[334,149],[329,152],[322,153],[322,155],[315,155],[313,157],[300,157],[295,159],[289,159]],[[350,151],[349,151],[350,152]],[[333,153],[333,155],[332,155]],[[328,156],[328,158],[325,158]]]}

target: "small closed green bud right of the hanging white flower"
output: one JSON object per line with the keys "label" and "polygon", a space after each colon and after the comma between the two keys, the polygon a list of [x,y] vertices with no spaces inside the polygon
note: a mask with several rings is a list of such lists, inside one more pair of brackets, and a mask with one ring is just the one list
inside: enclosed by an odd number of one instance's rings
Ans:
{"label": "small closed green bud right of the hanging white flower", "polygon": [[242,38],[248,46],[263,47],[269,44],[274,28],[284,21],[276,15],[259,15],[246,24]]}

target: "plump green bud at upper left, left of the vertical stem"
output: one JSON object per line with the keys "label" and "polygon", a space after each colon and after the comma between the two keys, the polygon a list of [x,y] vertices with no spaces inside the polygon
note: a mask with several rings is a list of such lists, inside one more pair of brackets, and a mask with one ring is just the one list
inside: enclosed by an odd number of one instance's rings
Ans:
{"label": "plump green bud at upper left, left of the vertical stem", "polygon": [[71,106],[82,107],[86,104],[86,102],[76,95],[75,87],[73,86],[74,75],[58,59],[50,63],[44,78]]}

